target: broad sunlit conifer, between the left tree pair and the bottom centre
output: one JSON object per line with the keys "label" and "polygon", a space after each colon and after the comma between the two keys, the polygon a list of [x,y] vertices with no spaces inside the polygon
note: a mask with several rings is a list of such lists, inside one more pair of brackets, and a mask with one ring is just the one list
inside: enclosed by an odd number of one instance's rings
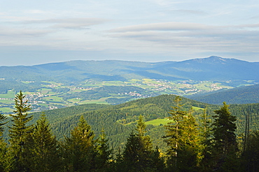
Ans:
{"label": "broad sunlit conifer, between the left tree pair and the bottom centre", "polygon": [[93,171],[96,166],[95,156],[94,132],[82,115],[78,126],[71,131],[71,137],[65,138],[65,171]]}

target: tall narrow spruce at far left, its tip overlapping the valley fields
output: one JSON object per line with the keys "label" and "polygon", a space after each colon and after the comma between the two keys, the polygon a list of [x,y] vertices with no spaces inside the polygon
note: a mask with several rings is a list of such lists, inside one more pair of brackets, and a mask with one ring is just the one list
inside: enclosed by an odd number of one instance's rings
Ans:
{"label": "tall narrow spruce at far left, its tip overlapping the valley fields", "polygon": [[27,123],[32,120],[32,116],[28,116],[28,111],[31,110],[28,101],[25,100],[25,95],[20,93],[15,95],[15,114],[12,117],[12,126],[9,127],[10,150],[14,156],[13,167],[14,171],[26,171],[24,166],[25,151],[24,146],[29,133],[31,133],[32,125]]}

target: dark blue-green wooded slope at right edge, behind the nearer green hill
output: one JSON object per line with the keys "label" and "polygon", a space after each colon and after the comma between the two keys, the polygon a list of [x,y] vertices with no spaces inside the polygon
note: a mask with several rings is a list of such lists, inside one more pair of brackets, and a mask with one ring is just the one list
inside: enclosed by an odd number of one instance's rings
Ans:
{"label": "dark blue-green wooded slope at right edge, behind the nearer green hill", "polygon": [[207,95],[193,94],[187,97],[211,104],[222,104],[223,101],[230,104],[259,103],[259,85],[237,87]]}

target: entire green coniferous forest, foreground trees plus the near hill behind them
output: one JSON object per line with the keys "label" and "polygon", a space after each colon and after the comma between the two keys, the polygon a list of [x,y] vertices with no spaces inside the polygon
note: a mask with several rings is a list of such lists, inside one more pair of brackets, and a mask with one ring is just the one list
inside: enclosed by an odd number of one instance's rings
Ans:
{"label": "entire green coniferous forest, foreground trees plus the near hill behind them", "polygon": [[[101,105],[99,111],[92,105],[81,114],[75,106],[70,116],[64,115],[68,109],[54,116],[42,112],[36,119],[22,92],[14,101],[14,113],[0,115],[0,171],[259,169],[258,104],[209,106],[162,95],[127,106]],[[167,117],[167,124],[145,122],[159,117]]]}

